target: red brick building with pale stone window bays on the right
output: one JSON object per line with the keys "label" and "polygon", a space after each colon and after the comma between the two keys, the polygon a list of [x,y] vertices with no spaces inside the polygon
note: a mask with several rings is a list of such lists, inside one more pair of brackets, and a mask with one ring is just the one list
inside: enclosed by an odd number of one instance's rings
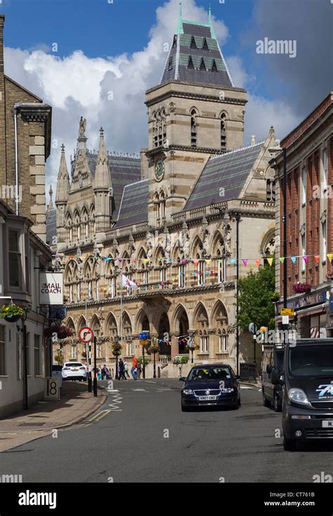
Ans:
{"label": "red brick building with pale stone window bays on the right", "polygon": [[[300,337],[333,335],[333,92],[281,141],[287,149],[287,294]],[[283,290],[283,160],[275,168],[276,290]],[[303,292],[302,292],[303,290]],[[295,292],[296,291],[296,292]],[[278,313],[282,303],[278,304]],[[280,317],[278,317],[280,322]]]}

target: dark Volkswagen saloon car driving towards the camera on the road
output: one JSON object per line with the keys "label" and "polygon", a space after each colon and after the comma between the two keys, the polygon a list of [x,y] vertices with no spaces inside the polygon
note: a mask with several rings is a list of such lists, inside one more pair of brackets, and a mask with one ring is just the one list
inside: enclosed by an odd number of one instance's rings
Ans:
{"label": "dark Volkswagen saloon car driving towards the camera on the road", "polygon": [[181,390],[181,410],[197,407],[240,407],[240,377],[225,363],[194,366]]}

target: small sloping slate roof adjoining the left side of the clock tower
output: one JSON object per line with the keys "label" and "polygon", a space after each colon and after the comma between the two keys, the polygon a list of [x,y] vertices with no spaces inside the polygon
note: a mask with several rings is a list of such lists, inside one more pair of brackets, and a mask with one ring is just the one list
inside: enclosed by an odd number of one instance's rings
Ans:
{"label": "small sloping slate roof adjoining the left side of the clock tower", "polygon": [[115,228],[148,221],[149,181],[143,179],[124,187]]}

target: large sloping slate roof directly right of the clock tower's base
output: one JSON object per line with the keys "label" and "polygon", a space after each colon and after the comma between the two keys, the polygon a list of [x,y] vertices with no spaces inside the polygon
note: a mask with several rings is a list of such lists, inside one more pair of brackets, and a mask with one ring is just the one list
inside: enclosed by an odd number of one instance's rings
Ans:
{"label": "large sloping slate roof directly right of the clock tower's base", "polygon": [[[183,209],[200,208],[211,203],[237,199],[251,172],[263,143],[211,157],[204,167]],[[221,188],[224,188],[221,190]],[[223,196],[220,195],[224,193]]]}

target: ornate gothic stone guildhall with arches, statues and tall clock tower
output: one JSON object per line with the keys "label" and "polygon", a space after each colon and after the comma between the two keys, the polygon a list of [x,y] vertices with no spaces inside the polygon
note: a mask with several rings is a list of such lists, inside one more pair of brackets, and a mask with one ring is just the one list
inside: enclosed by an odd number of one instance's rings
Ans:
{"label": "ornate gothic stone guildhall with arches, statues and tall clock tower", "polygon": [[[235,366],[235,258],[244,276],[252,259],[273,254],[274,183],[266,141],[243,146],[247,91],[233,85],[211,25],[178,20],[162,81],[146,93],[148,148],[141,158],[86,148],[86,120],[71,178],[62,148],[55,209],[56,264],[67,289],[65,359],[82,359],[77,339],[88,325],[98,336],[98,363],[141,354],[138,334],[159,339],[157,361],[188,353],[195,361]],[[237,149],[237,150],[235,150]],[[50,240],[53,235],[48,235]],[[251,262],[252,260],[252,262]],[[124,288],[121,275],[138,283]],[[121,321],[122,305],[122,321]],[[182,338],[178,338],[181,336]],[[240,360],[252,360],[241,338]]]}

